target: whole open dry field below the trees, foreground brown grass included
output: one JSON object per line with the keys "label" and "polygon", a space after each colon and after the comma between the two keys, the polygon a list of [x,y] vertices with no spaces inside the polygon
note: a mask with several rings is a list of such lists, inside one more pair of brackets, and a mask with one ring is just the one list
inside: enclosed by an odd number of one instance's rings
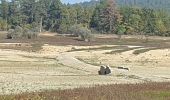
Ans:
{"label": "whole open dry field below the trees, foreground brown grass included", "polygon": [[[55,33],[35,40],[5,36],[0,33],[0,99],[170,99],[170,38],[95,35],[83,42]],[[112,74],[98,75],[101,65],[109,65]]]}

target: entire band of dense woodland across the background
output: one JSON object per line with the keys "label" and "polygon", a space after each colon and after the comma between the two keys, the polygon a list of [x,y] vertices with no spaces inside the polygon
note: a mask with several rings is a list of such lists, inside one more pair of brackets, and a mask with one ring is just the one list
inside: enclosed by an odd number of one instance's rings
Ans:
{"label": "entire band of dense woodland across the background", "polygon": [[1,0],[0,29],[9,30],[8,38],[32,38],[42,31],[85,34],[82,38],[91,32],[170,36],[169,4],[169,0],[92,0],[73,5],[60,0]]}

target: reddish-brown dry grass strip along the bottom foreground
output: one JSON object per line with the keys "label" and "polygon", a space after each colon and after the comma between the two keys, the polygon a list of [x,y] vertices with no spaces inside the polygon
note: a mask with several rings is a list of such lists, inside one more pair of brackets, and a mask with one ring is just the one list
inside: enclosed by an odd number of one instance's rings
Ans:
{"label": "reddish-brown dry grass strip along the bottom foreground", "polygon": [[1,100],[169,100],[170,83],[117,84],[0,96]]}

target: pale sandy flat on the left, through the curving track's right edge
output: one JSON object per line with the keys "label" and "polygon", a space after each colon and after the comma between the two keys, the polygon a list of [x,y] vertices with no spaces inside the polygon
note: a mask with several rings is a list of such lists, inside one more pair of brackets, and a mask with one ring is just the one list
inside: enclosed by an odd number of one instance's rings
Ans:
{"label": "pale sandy flat on the left, through the curving track's right edge", "polygon": [[0,50],[0,94],[139,82],[115,75],[99,76],[99,66],[86,64],[74,56],[68,52],[49,55],[49,52]]}

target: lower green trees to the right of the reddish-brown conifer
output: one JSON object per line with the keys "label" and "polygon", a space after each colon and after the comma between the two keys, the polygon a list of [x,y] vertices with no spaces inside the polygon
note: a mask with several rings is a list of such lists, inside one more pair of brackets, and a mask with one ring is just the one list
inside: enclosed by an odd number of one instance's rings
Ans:
{"label": "lower green trees to the right of the reddish-brown conifer", "polygon": [[123,24],[126,26],[126,34],[143,34],[167,36],[169,14],[162,10],[122,7]]}

